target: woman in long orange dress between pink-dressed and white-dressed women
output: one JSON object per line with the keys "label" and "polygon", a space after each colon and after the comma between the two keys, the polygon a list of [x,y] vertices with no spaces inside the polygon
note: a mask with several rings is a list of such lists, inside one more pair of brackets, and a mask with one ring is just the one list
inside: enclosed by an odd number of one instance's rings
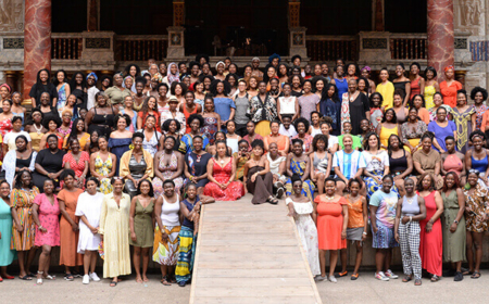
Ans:
{"label": "woman in long orange dress between pink-dressed and white-dressed women", "polygon": [[74,170],[64,169],[61,174],[61,180],[64,181],[64,188],[58,194],[58,202],[60,203],[62,214],[60,220],[60,265],[64,265],[64,279],[67,281],[73,281],[74,276],[79,276],[78,271],[73,271],[72,274],[70,267],[84,265],[83,255],[77,253],[79,228],[78,217],[75,216],[78,197],[84,191],[75,187],[75,178],[76,175]]}

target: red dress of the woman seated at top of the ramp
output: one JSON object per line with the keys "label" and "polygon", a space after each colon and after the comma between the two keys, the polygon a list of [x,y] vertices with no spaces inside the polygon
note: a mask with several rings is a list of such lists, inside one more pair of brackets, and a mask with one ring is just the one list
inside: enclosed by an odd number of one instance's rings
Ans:
{"label": "red dress of the woman seated at top of the ramp", "polygon": [[[212,176],[214,179],[221,183],[227,182],[233,173],[233,159],[224,167],[215,159],[210,162],[213,162]],[[216,201],[236,201],[244,195],[244,187],[239,181],[231,181],[223,190],[215,182],[210,181],[204,187],[204,195],[213,197]]]}

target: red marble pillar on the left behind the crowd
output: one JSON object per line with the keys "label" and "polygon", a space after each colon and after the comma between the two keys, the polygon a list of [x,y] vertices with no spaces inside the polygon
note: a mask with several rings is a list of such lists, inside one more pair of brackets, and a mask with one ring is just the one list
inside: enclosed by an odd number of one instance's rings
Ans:
{"label": "red marble pillar on the left behind the crowd", "polygon": [[51,0],[25,0],[24,101],[41,68],[51,71]]}

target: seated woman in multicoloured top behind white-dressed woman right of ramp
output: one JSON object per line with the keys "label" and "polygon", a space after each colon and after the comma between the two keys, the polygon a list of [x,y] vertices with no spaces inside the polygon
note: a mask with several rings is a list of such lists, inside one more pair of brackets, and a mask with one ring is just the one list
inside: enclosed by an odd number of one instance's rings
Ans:
{"label": "seated woman in multicoloured top behind white-dressed woman right of ramp", "polygon": [[[300,119],[300,118],[298,118]],[[292,193],[292,176],[299,175],[303,181],[302,194],[308,197],[311,202],[314,197],[314,183],[309,179],[311,173],[311,160],[304,154],[303,141],[301,139],[292,139],[292,153],[287,155],[287,175],[289,178],[286,182],[287,195]]]}

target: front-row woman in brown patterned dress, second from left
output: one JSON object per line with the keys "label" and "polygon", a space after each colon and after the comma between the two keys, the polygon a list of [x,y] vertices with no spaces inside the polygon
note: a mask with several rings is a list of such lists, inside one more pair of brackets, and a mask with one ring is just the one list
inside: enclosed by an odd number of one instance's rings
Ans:
{"label": "front-row woman in brown patterned dress, second from left", "polygon": [[[35,223],[30,210],[34,199],[39,194],[39,189],[33,183],[33,175],[28,170],[20,170],[15,177],[15,186],[11,193],[11,210],[14,225],[12,226],[11,249],[17,251],[20,278],[32,280],[28,273],[36,250]],[[34,276],[34,275],[33,275]]]}

